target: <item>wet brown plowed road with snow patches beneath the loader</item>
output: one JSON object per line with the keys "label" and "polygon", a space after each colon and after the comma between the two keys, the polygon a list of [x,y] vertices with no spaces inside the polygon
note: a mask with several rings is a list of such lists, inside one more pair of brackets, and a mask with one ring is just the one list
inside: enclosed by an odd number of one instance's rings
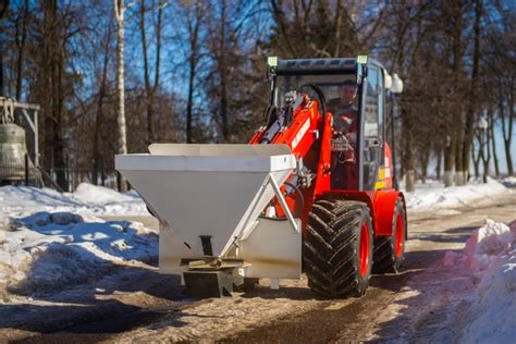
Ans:
{"label": "wet brown plowed road with snow patches beneath the loader", "polygon": [[0,341],[453,342],[475,281],[460,266],[446,267],[444,254],[460,249],[487,217],[508,222],[515,209],[513,192],[459,212],[409,213],[404,272],[373,277],[361,298],[316,300],[302,280],[282,282],[279,291],[263,281],[253,293],[193,300],[155,266],[113,267],[90,284],[0,306],[10,307]]}

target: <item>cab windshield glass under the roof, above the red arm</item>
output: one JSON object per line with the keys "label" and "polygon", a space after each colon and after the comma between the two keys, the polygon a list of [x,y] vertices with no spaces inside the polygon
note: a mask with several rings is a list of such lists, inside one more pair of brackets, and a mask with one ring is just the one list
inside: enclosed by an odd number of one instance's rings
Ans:
{"label": "cab windshield glass under the roof, above the red arm", "polygon": [[[324,93],[327,100],[327,108],[332,113],[336,110],[342,102],[342,89],[344,84],[347,82],[356,81],[355,74],[331,74],[331,75],[278,75],[275,91],[273,97],[274,106],[281,108],[284,105],[285,94],[290,90],[299,90],[299,87],[307,84],[315,84],[319,86]],[[311,99],[317,99],[314,90],[309,87],[302,89],[307,93]],[[353,106],[358,108],[358,99],[356,97],[353,100]]]}

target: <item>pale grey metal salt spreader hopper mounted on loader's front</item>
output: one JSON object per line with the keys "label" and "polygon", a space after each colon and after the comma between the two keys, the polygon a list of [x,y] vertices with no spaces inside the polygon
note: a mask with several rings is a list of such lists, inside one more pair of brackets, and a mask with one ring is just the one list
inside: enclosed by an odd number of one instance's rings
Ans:
{"label": "pale grey metal salt spreader hopper mounted on loader's front", "polygon": [[160,220],[160,272],[188,292],[223,295],[244,278],[298,279],[300,221],[260,218],[296,168],[286,145],[151,145],[116,169]]}

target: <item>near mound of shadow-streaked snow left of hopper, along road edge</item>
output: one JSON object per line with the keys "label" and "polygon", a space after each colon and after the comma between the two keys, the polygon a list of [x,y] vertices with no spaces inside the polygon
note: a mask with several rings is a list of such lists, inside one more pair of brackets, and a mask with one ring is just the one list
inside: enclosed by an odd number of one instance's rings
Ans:
{"label": "near mound of shadow-streaked snow left of hopper, along road edge", "polygon": [[0,302],[97,280],[113,265],[149,261],[158,237],[139,222],[38,212],[0,223]]}

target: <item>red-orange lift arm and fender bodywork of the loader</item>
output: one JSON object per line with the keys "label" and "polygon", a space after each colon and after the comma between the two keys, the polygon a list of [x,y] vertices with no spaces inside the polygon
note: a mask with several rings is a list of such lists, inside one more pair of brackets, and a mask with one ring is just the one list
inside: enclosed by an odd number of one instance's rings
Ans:
{"label": "red-orange lift arm and fender bodywork of the loader", "polygon": [[[267,128],[262,127],[253,136],[249,144],[259,145],[266,134]],[[306,234],[308,214],[314,202],[323,198],[359,200],[367,204],[372,218],[374,235],[392,235],[394,207],[397,198],[403,198],[403,194],[392,189],[391,148],[389,145],[384,145],[384,188],[365,192],[332,189],[330,184],[332,135],[332,114],[327,113],[325,116],[322,116],[319,113],[317,101],[310,101],[305,97],[302,106],[293,114],[292,124],[279,131],[270,142],[270,144],[288,145],[296,158],[303,158],[304,164],[316,174],[311,186],[300,189],[303,200],[297,193],[288,194],[285,197],[293,212],[298,212],[299,202],[303,202],[300,213],[296,214],[303,222],[303,235]],[[285,186],[282,186],[282,191],[285,191]],[[275,210],[279,217],[284,216],[278,202]]]}

